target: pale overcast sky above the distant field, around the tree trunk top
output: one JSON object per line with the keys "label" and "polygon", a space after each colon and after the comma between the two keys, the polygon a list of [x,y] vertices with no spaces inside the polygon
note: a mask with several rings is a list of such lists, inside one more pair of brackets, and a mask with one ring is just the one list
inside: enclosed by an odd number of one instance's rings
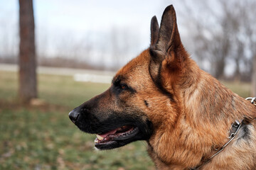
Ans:
{"label": "pale overcast sky above the distant field, around the tree trunk top", "polygon": [[[181,40],[193,57],[192,43],[187,38],[189,28],[183,23],[183,18],[190,16],[182,15],[183,3],[177,0],[33,0],[38,55],[73,57],[71,51],[76,49],[75,55],[92,64],[117,64],[112,62],[114,43],[111,40],[105,43],[117,32],[117,45],[126,39],[129,45],[125,56],[118,59],[122,66],[149,47],[151,18],[156,16],[160,22],[164,8],[170,4],[176,9]],[[0,11],[0,55],[5,52],[16,55],[18,0],[0,0]],[[93,46],[90,57],[85,54],[88,46]]]}

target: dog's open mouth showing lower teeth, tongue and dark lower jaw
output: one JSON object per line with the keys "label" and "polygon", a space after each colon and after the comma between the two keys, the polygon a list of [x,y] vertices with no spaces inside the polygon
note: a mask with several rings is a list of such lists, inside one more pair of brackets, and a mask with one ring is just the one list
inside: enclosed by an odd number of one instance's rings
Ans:
{"label": "dog's open mouth showing lower teeth, tongue and dark lower jaw", "polygon": [[122,144],[131,142],[139,132],[139,128],[124,125],[122,127],[110,130],[104,134],[97,134],[95,139],[95,147],[97,149],[112,149],[114,147],[120,147]]}

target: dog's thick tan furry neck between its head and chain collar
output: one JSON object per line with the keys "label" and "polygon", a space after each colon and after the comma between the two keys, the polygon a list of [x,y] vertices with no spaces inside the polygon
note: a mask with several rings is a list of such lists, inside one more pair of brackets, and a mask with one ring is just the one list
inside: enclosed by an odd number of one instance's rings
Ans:
{"label": "dog's thick tan furry neck between its head and chain collar", "polygon": [[193,75],[193,81],[183,82],[182,86],[189,88],[174,90],[179,103],[175,124],[161,125],[149,140],[149,155],[158,169],[197,166],[215,153],[215,148],[225,145],[235,120],[256,114],[255,108],[245,107],[247,102],[218,80],[199,73],[196,79]]}

